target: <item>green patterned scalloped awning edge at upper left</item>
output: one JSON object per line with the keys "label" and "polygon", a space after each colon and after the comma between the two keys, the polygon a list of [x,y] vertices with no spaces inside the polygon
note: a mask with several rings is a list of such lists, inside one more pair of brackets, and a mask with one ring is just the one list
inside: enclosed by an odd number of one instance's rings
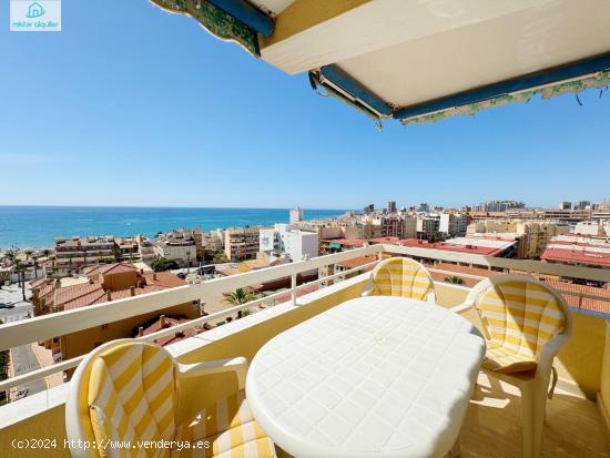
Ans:
{"label": "green patterned scalloped awning edge at upper left", "polygon": [[165,11],[190,16],[217,39],[235,42],[253,55],[260,54],[256,32],[209,1],[151,0],[151,2]]}

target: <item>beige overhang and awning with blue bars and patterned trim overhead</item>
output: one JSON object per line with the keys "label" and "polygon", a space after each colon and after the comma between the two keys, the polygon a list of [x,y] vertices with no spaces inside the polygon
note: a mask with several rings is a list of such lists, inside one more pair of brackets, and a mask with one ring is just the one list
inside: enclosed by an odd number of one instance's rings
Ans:
{"label": "beige overhang and awning with blue bars and patterned trim overhead", "polygon": [[607,0],[152,1],[378,119],[437,121],[610,81]]}

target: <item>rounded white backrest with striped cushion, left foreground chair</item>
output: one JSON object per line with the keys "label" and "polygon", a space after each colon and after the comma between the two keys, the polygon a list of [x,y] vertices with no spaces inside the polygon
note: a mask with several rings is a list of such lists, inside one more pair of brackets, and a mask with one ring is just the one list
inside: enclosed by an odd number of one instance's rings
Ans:
{"label": "rounded white backrest with striped cushion, left foreground chair", "polygon": [[[173,440],[176,366],[162,347],[133,339],[114,340],[93,350],[70,383],[65,406],[69,439]],[[72,450],[72,456],[123,456]],[[126,456],[131,456],[130,452]]]}

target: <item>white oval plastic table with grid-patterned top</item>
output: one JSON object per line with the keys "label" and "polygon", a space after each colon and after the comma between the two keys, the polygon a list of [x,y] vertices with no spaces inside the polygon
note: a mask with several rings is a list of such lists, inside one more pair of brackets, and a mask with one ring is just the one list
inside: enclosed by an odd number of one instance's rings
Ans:
{"label": "white oval plastic table with grid-patterned top", "polygon": [[390,296],[347,301],[267,342],[246,379],[254,418],[298,457],[443,457],[485,355],[465,318]]}

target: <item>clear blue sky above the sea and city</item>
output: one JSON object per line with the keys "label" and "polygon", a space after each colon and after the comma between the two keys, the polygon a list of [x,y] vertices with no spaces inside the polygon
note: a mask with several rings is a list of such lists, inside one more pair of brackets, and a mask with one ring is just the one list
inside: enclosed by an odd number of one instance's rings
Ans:
{"label": "clear blue sky above the sea and city", "polygon": [[[610,91],[373,123],[145,0],[0,6],[0,204],[362,207],[610,197]],[[450,69],[449,69],[450,70]],[[448,78],[450,71],[448,72]]]}

